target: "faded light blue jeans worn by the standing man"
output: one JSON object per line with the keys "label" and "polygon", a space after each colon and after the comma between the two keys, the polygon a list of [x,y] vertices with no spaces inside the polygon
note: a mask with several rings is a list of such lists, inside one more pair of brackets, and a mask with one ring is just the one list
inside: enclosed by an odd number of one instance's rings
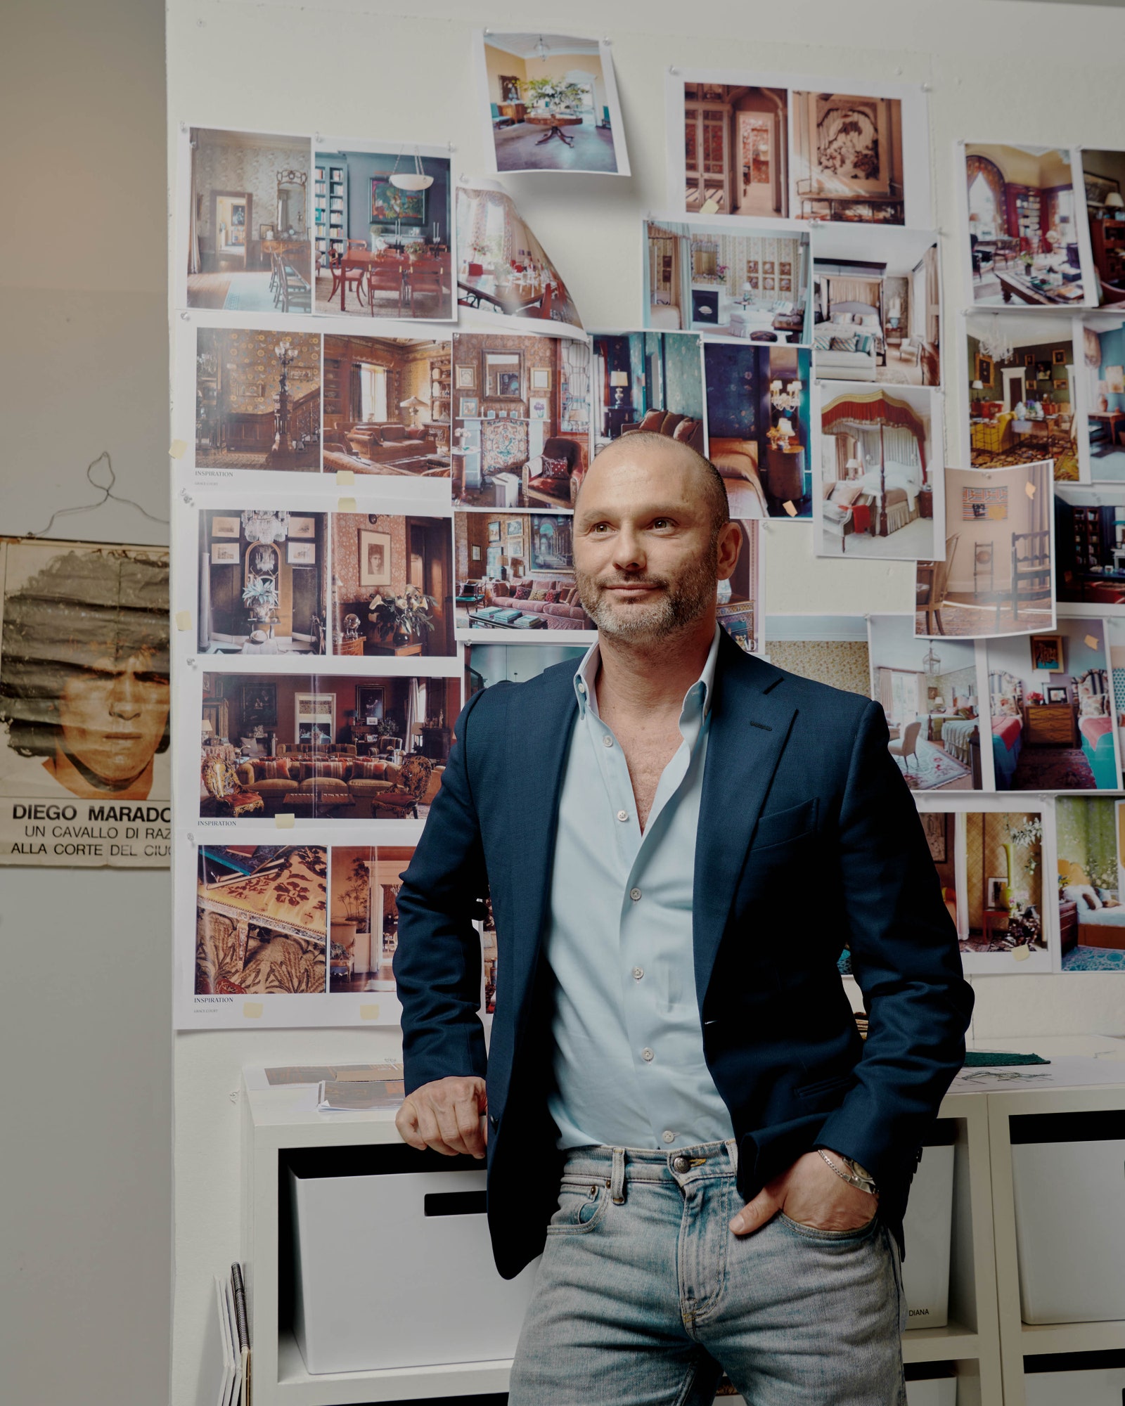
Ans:
{"label": "faded light blue jeans worn by the standing man", "polygon": [[754,1234],[735,1143],[577,1147],[512,1367],[509,1406],[904,1406],[899,1251],[879,1218]]}

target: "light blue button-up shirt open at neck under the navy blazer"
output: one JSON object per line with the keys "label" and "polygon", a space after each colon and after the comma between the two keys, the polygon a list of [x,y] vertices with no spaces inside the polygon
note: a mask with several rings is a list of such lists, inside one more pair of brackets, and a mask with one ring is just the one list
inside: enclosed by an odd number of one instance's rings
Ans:
{"label": "light blue button-up shirt open at neck under the navy blazer", "polygon": [[692,886],[716,627],[683,696],[683,742],[637,823],[629,766],[598,716],[595,644],[574,676],[578,720],[558,807],[546,955],[555,980],[550,1111],[560,1147],[689,1147],[734,1136],[703,1059]]}

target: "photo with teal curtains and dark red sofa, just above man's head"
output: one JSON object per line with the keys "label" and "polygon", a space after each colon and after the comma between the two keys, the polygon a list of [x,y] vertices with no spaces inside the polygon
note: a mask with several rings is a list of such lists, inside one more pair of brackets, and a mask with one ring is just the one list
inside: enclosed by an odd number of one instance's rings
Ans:
{"label": "photo with teal curtains and dark red sofa, just above man's head", "polygon": [[702,343],[690,332],[593,332],[593,451],[637,430],[706,451]]}

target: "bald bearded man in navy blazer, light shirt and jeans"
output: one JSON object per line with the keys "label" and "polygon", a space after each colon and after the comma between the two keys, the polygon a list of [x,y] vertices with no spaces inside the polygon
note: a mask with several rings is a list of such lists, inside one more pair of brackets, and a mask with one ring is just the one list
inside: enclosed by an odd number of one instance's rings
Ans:
{"label": "bald bearded man in navy blazer, light shirt and jeans", "polygon": [[717,627],[740,546],[693,450],[595,458],[598,643],[474,695],[399,890],[399,1132],[488,1156],[501,1274],[543,1254],[512,1406],[695,1406],[720,1369],[754,1406],[906,1400],[903,1212],[972,991],[882,709]]}

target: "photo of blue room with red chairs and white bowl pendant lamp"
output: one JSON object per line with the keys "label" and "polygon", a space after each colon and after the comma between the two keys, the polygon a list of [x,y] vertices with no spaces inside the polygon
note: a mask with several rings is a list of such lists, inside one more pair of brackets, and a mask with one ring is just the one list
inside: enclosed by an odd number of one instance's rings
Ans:
{"label": "photo of blue room with red chairs and white bowl pendant lamp", "polygon": [[318,145],[312,153],[316,312],[449,322],[449,153],[412,142]]}

